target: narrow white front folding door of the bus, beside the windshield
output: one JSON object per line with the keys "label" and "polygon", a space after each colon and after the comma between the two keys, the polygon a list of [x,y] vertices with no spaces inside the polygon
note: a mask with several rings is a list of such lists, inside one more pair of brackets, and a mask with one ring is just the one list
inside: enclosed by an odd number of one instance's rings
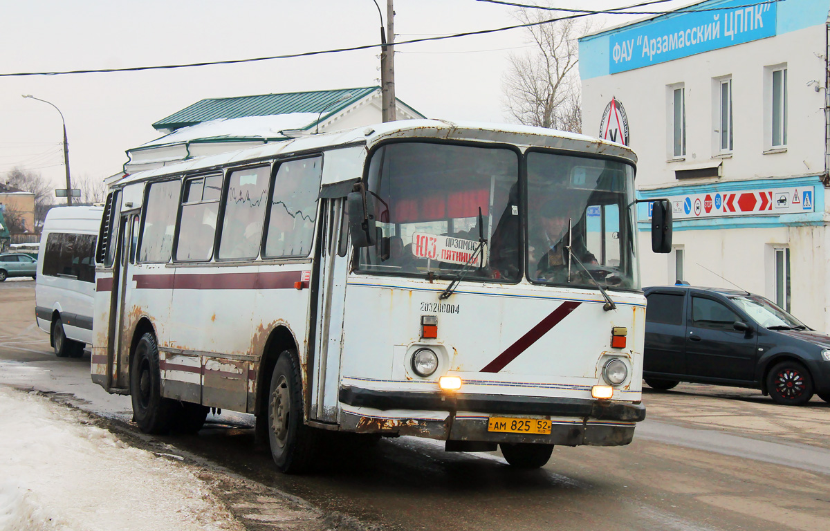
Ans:
{"label": "narrow white front folding door of the bus, beside the windshield", "polygon": [[[317,293],[315,368],[312,378],[310,417],[336,422],[340,353],[343,348],[343,317],[346,296],[344,197],[321,199],[320,289]],[[341,256],[342,255],[342,256]]]}

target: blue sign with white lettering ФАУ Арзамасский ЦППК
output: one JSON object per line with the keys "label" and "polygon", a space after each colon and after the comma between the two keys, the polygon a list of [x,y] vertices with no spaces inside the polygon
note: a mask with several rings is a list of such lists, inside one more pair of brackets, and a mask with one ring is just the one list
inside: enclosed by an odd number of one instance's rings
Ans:
{"label": "blue sign with white lettering \u0424\u0410\u0423 \u0410\u0440\u0437\u0430\u043c\u0430\u0441\u0441\u043a\u0438\u0439 \u0426\u041f\u041f\u041a", "polygon": [[612,74],[775,35],[776,2],[705,3],[611,34]]}

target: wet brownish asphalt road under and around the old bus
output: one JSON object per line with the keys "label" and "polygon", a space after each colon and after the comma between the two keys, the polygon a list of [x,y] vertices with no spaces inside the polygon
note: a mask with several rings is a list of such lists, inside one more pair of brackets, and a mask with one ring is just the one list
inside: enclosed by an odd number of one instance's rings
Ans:
{"label": "wet brownish asphalt road under and around the old bus", "polygon": [[[129,397],[90,382],[89,353],[51,353],[32,325],[33,288],[0,283],[0,384],[55,393],[134,432]],[[557,447],[533,471],[513,470],[498,452],[447,453],[402,437],[330,446],[315,473],[281,475],[254,451],[251,417],[227,412],[198,436],[154,441],[364,529],[830,529],[830,404],[779,407],[754,390],[699,385],[647,390],[644,402],[648,419],[631,445]],[[225,499],[242,506],[235,497]],[[263,522],[269,503],[249,496],[236,514],[249,529],[300,529]]]}

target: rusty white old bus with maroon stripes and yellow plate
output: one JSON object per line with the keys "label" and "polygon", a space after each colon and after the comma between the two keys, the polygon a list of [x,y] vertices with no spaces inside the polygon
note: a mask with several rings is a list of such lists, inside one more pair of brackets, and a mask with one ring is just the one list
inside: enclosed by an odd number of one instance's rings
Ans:
{"label": "rusty white old bus with maroon stripes and yellow plate", "polygon": [[[125,176],[92,378],[149,433],[253,413],[286,472],[325,431],[500,445],[520,467],[627,444],[645,417],[635,162],[550,129],[410,120]],[[653,220],[666,252],[662,202]]]}

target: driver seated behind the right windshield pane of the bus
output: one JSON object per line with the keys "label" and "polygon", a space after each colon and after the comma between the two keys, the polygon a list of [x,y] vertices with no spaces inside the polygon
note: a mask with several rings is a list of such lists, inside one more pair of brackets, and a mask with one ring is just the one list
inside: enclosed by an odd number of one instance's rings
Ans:
{"label": "driver seated behind the right windshield pane of the bus", "polygon": [[[568,282],[568,246],[569,240],[574,256],[583,264],[596,264],[597,258],[585,246],[582,236],[573,230],[579,217],[573,212],[574,202],[568,197],[560,196],[557,200],[545,202],[540,208],[539,224],[541,243],[534,247],[533,256],[539,256],[536,265],[536,280]],[[568,224],[571,223],[573,236],[569,238]],[[540,254],[541,253],[541,254]],[[533,263],[533,261],[531,261]],[[576,261],[570,264],[570,272],[580,274],[582,268]]]}

